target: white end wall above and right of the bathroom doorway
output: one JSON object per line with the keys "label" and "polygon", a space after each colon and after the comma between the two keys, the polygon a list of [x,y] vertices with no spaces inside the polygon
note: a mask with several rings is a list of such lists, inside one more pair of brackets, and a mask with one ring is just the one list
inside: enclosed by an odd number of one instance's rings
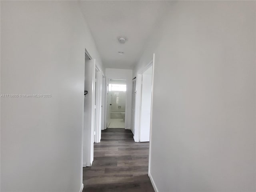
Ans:
{"label": "white end wall above and right of the bathroom doorway", "polygon": [[126,79],[127,106],[125,114],[125,127],[131,128],[131,106],[132,106],[132,70],[106,68],[106,79]]}

